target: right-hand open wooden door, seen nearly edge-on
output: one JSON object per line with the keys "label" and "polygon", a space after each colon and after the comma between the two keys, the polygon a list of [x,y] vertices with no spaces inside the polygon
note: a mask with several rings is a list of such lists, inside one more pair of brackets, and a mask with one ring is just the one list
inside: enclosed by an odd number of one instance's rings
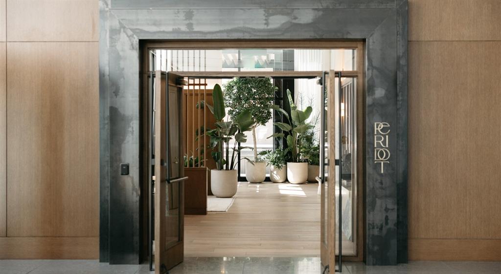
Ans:
{"label": "right-hand open wooden door, seen nearly edge-on", "polygon": [[[322,273],[334,273],[336,269],[336,73],[334,70],[324,72],[323,98],[321,112],[321,178],[319,178],[321,195],[321,236],[320,258]],[[341,250],[341,249],[340,249]]]}

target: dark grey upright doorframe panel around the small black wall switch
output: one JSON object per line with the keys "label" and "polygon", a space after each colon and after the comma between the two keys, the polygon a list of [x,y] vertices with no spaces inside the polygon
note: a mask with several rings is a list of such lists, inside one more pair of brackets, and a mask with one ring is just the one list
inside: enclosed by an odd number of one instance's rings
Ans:
{"label": "dark grey upright doorframe panel around the small black wall switch", "polygon": [[[139,263],[139,40],[109,16],[110,263]],[[129,163],[129,175],[120,175]]]}

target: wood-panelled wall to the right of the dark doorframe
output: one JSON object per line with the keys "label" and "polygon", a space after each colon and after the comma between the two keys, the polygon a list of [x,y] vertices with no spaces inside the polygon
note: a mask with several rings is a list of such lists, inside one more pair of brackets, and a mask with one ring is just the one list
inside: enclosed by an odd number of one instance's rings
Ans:
{"label": "wood-panelled wall to the right of the dark doorframe", "polygon": [[501,1],[409,1],[409,259],[501,260]]}

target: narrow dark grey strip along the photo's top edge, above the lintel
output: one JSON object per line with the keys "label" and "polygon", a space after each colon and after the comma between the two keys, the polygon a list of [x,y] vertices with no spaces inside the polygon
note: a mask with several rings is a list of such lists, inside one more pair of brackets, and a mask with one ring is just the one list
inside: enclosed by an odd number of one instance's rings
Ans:
{"label": "narrow dark grey strip along the photo's top edge, above the lintel", "polygon": [[111,0],[113,9],[393,8],[395,0]]}

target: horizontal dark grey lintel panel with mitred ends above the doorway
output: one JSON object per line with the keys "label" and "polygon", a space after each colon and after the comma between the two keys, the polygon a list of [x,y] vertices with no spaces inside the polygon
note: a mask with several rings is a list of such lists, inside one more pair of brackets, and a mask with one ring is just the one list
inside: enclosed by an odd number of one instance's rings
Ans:
{"label": "horizontal dark grey lintel panel with mitred ends above the doorway", "polygon": [[113,13],[140,39],[360,39],[370,35],[391,10],[120,9]]}

